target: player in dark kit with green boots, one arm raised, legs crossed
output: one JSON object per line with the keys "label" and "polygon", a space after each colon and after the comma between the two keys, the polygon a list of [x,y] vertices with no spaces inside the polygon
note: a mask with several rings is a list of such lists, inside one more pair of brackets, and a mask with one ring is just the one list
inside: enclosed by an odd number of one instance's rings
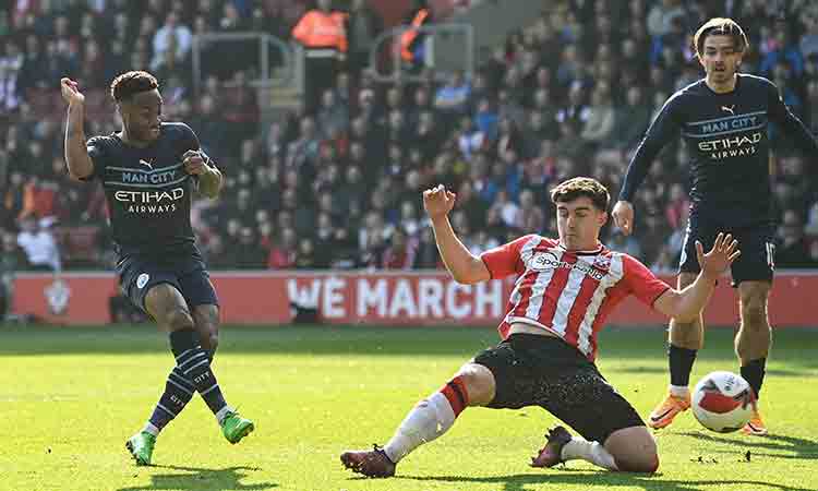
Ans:
{"label": "player in dark kit with green boots, one arm raised, legs crossed", "polygon": [[120,286],[170,336],[176,366],[148,422],[125,446],[149,465],[156,436],[199,392],[225,438],[238,443],[253,422],[228,406],[210,368],[218,344],[219,308],[190,223],[191,193],[213,199],[221,172],[184,123],[163,122],[156,79],[131,71],[111,83],[122,130],[86,142],[85,97],[62,79],[69,105],[65,161],[71,177],[103,182],[110,211]]}

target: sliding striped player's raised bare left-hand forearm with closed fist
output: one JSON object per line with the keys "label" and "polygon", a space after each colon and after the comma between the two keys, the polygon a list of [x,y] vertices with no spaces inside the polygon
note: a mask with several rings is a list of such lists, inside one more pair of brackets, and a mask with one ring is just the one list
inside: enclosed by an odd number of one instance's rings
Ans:
{"label": "sliding striped player's raised bare left-hand forearm with closed fist", "polygon": [[432,220],[434,240],[443,263],[457,283],[469,285],[491,279],[483,261],[466,249],[452,228],[448,213],[455,206],[455,193],[443,184],[423,191],[423,207]]}

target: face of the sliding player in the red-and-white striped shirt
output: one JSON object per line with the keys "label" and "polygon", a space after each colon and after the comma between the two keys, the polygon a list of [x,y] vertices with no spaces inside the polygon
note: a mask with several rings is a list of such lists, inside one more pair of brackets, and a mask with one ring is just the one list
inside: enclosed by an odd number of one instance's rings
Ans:
{"label": "face of the sliding player in the red-and-white striped shirt", "polygon": [[556,228],[566,249],[587,251],[599,242],[599,231],[608,220],[608,213],[593,205],[590,197],[580,196],[556,205]]}

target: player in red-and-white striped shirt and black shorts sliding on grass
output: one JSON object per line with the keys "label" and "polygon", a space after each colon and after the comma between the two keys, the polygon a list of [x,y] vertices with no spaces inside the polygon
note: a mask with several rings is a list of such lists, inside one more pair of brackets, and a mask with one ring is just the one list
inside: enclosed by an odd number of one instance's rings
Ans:
{"label": "player in red-and-white striped shirt and black shorts sliding on grass", "polygon": [[452,229],[455,194],[443,185],[423,193],[423,205],[446,268],[462,284],[515,275],[502,343],[464,364],[438,392],[418,403],[392,440],[371,451],[349,451],[341,463],[364,476],[389,477],[396,464],[423,443],[445,433],[467,407],[519,409],[540,406],[564,427],[549,432],[533,467],[584,459],[610,470],[653,472],[659,456],[634,407],[597,370],[597,335],[615,306],[629,295],[675,319],[698,315],[715,279],[738,256],[730,235],[719,235],[705,254],[701,272],[676,290],[636,259],[599,240],[610,195],[590,178],[567,180],[551,191],[557,240],[524,236],[476,256]]}

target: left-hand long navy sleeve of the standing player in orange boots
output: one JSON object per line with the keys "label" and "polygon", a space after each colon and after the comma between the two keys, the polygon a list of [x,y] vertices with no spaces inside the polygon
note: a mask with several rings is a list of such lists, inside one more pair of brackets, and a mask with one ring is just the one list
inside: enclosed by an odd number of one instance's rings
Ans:
{"label": "left-hand long navy sleeve of the standing player in orange boots", "polygon": [[625,172],[625,179],[619,191],[621,201],[634,201],[636,190],[648,176],[653,159],[667,143],[678,137],[681,129],[679,104],[679,94],[676,94],[664,103],[657,118],[650,123],[648,132],[636,148],[630,165],[628,165],[628,170]]}

